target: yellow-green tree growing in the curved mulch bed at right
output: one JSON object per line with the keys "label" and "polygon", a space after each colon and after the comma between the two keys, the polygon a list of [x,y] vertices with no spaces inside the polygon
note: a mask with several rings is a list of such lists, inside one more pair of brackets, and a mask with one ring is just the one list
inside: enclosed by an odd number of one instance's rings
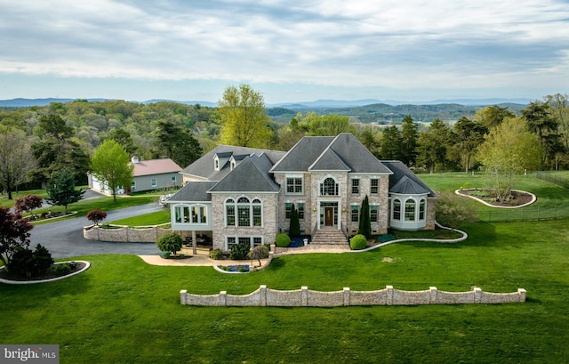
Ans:
{"label": "yellow-green tree growing in the curved mulch bed at right", "polygon": [[509,199],[514,177],[540,166],[541,148],[520,117],[506,117],[490,129],[478,147],[478,160],[485,168],[490,187],[499,201]]}

